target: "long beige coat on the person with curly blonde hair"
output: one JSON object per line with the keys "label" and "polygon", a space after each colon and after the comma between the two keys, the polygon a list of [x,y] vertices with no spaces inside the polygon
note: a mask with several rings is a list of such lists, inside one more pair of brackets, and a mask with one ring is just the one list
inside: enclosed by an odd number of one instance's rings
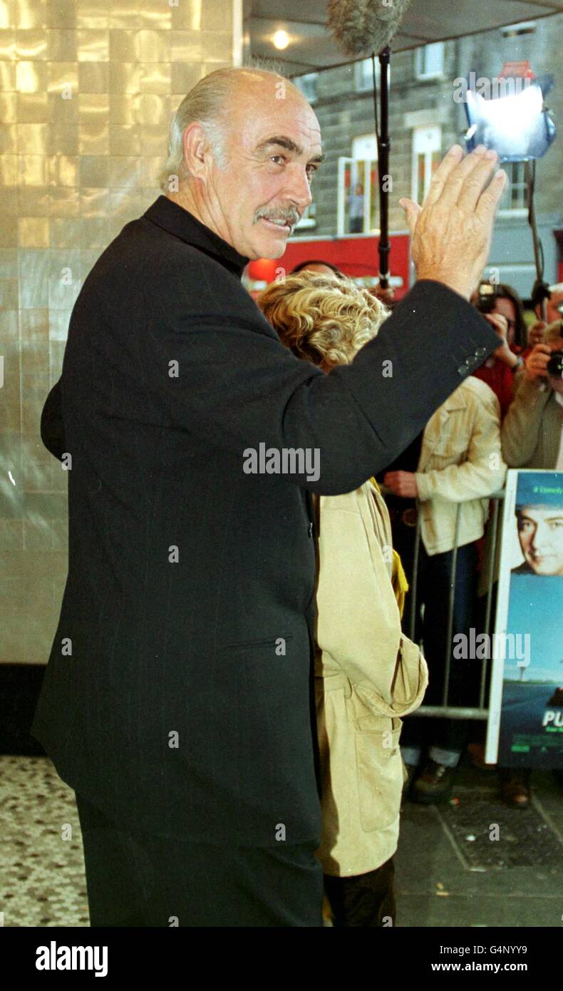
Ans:
{"label": "long beige coat on the person with curly blonde hair", "polygon": [[387,506],[367,482],[315,496],[318,516],[315,686],[326,874],[375,870],[394,854],[403,764],[400,716],[428,681],[400,631]]}

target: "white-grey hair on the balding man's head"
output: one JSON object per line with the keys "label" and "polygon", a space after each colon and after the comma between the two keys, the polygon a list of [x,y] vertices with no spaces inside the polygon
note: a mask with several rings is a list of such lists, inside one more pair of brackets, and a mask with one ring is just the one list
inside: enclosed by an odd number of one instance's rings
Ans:
{"label": "white-grey hair on the balding man's head", "polygon": [[230,66],[210,72],[184,96],[170,122],[169,154],[160,175],[161,189],[164,192],[169,191],[169,179],[172,176],[177,175],[179,183],[189,177],[183,157],[182,138],[186,127],[195,121],[203,128],[217,167],[221,170],[227,167],[226,139],[230,98],[237,83],[243,81],[245,77],[252,76],[256,77],[257,81],[260,76],[271,76],[277,82],[283,79],[285,83],[291,85],[288,79],[283,78],[281,72],[270,68],[265,69],[257,65]]}

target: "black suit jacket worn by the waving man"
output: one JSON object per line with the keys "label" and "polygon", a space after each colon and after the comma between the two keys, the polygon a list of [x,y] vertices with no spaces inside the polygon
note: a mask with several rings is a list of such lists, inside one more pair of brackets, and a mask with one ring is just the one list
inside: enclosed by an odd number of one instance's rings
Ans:
{"label": "black suit jacket worn by the waving man", "polygon": [[[385,468],[499,342],[422,281],[325,376],[281,345],[247,261],[160,196],[76,299],[42,418],[71,456],[69,547],[33,733],[130,826],[314,842],[310,493]],[[260,444],[318,448],[319,480],[246,474]]]}

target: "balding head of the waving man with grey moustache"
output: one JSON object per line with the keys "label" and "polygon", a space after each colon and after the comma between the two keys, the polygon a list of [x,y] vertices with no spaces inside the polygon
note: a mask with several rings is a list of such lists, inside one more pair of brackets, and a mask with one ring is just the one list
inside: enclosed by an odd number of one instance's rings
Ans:
{"label": "balding head of the waving man with grey moustache", "polygon": [[242,255],[280,258],[322,159],[318,121],[296,86],[266,69],[218,69],[174,115],[165,176],[178,188],[163,187]]}

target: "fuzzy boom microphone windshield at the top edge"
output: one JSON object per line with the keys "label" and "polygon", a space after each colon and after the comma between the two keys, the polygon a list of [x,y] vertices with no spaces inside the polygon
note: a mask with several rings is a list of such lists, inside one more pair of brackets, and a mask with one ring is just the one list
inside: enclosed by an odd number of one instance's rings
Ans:
{"label": "fuzzy boom microphone windshield at the top edge", "polygon": [[376,55],[398,31],[410,0],[329,0],[326,27],[344,55]]}

